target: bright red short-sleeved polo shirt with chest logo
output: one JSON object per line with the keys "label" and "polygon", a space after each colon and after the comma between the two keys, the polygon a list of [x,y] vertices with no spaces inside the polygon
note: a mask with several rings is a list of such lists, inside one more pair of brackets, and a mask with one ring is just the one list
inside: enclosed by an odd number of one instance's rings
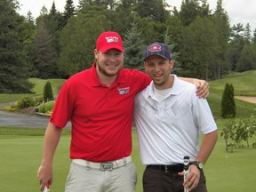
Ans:
{"label": "bright red short-sleeved polo shirt with chest logo", "polygon": [[108,87],[100,83],[95,64],[71,76],[61,87],[50,119],[60,128],[71,120],[70,157],[104,162],[130,156],[133,100],[150,81],[143,72],[121,69]]}

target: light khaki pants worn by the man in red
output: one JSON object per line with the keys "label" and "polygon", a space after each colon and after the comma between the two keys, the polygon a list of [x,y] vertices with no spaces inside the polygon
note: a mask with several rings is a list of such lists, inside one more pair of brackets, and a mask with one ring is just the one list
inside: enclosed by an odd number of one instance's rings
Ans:
{"label": "light khaki pants worn by the man in red", "polygon": [[130,162],[111,171],[70,164],[65,192],[135,192],[137,172]]}

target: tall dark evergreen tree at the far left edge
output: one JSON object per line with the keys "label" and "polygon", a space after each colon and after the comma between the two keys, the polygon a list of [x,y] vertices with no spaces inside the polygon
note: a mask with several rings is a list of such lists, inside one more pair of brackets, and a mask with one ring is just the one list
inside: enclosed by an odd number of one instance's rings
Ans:
{"label": "tall dark evergreen tree at the far left edge", "polygon": [[15,9],[15,1],[0,1],[0,93],[31,92],[33,87],[22,47],[25,18]]}

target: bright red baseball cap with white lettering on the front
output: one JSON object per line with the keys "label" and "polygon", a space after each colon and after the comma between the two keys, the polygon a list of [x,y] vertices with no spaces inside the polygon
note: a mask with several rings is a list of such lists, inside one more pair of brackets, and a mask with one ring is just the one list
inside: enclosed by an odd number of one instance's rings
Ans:
{"label": "bright red baseball cap with white lettering on the front", "polygon": [[122,38],[113,31],[103,32],[98,37],[96,49],[102,53],[107,52],[109,49],[117,49],[120,52],[124,52]]}

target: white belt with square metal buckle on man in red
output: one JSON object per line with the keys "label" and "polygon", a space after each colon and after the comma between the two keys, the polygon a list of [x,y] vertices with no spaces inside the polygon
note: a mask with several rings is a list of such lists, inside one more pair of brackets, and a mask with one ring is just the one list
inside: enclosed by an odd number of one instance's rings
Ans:
{"label": "white belt with square metal buckle on man in red", "polygon": [[74,164],[79,164],[86,168],[98,169],[101,171],[111,171],[118,167],[125,166],[126,164],[129,164],[130,162],[132,162],[131,156],[127,156],[127,157],[118,159],[116,161],[108,161],[108,162],[100,162],[100,163],[86,161],[84,159],[72,159],[72,163],[74,163]]}

